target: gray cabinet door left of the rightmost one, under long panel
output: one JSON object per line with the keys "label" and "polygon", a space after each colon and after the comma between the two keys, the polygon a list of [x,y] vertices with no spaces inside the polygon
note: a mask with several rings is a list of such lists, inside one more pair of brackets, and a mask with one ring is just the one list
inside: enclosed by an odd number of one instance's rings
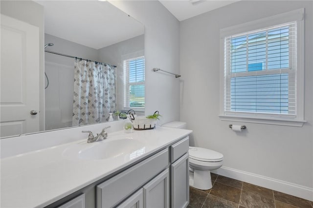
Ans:
{"label": "gray cabinet door left of the rightmost one, under long panel", "polygon": [[143,187],[144,208],[170,207],[169,180],[169,170],[167,168]]}

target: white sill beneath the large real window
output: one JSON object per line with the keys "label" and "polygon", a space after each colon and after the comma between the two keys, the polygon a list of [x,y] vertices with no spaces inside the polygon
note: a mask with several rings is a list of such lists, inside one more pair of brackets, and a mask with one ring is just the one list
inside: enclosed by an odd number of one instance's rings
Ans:
{"label": "white sill beneath the large real window", "polygon": [[231,115],[219,115],[221,121],[233,121],[233,122],[246,122],[255,124],[269,124],[269,125],[287,125],[302,127],[306,121],[288,120],[278,118],[252,118],[245,116],[231,116]]}

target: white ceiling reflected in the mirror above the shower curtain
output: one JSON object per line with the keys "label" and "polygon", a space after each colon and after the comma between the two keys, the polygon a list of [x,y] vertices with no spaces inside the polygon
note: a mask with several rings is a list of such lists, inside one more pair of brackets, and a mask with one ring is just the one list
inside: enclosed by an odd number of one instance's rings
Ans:
{"label": "white ceiling reflected in the mirror above the shower curtain", "polygon": [[45,33],[100,49],[142,35],[142,23],[108,1],[35,0],[44,6]]}

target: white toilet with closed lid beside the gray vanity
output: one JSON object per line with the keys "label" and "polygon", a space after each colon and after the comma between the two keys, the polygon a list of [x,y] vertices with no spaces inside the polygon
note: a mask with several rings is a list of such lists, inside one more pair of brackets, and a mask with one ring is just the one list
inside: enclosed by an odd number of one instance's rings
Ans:
{"label": "white toilet with closed lid beside the gray vanity", "polygon": [[[162,126],[185,129],[186,122],[170,122]],[[212,188],[211,170],[223,165],[223,154],[201,147],[189,146],[189,185],[201,190]]]}

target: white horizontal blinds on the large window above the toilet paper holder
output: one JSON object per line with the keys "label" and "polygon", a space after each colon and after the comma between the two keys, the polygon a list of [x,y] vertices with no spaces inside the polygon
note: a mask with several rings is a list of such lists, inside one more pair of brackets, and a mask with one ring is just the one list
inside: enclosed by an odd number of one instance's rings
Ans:
{"label": "white horizontal blinds on the large window above the toilet paper holder", "polygon": [[296,115],[296,21],[224,38],[225,114]]}

